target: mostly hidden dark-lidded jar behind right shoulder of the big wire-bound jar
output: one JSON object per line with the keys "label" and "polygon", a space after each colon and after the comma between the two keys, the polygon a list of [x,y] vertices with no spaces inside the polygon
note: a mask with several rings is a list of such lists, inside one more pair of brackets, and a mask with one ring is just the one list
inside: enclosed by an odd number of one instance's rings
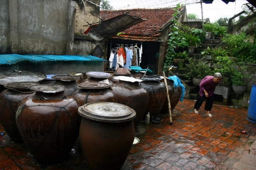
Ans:
{"label": "mostly hidden dark-lidded jar behind right shoulder of the big wire-bound jar", "polygon": [[66,87],[65,94],[72,95],[76,90],[78,90],[78,83],[76,80],[79,80],[79,76],[77,75],[54,75],[52,76],[55,79],[54,85],[62,85]]}

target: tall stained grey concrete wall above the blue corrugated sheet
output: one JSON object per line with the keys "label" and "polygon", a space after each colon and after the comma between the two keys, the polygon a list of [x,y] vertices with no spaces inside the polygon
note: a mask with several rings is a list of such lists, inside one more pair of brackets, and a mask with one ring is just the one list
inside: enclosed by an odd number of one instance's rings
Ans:
{"label": "tall stained grey concrete wall above the blue corrugated sheet", "polygon": [[[91,2],[99,4],[100,0]],[[0,54],[89,55],[104,42],[83,39],[84,25],[99,22],[100,8],[73,0],[1,0]],[[102,56],[101,58],[106,58]]]}

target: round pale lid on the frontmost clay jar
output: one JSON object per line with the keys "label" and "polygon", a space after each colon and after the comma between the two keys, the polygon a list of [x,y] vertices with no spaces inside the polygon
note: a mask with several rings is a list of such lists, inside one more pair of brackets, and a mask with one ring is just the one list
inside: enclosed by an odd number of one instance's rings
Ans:
{"label": "round pale lid on the frontmost clay jar", "polygon": [[78,113],[88,119],[101,122],[125,122],[136,116],[135,110],[113,102],[92,102],[78,108]]}

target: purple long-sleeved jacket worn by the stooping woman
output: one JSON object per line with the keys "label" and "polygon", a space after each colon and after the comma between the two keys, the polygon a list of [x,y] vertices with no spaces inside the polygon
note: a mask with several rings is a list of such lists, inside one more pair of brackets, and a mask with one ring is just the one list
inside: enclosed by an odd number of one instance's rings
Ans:
{"label": "purple long-sleeved jacket worn by the stooping woman", "polygon": [[209,97],[213,95],[215,87],[216,87],[216,85],[218,85],[218,83],[213,82],[213,78],[214,78],[214,76],[206,76],[201,80],[201,82],[199,84],[199,88],[200,88],[199,94],[201,96],[204,95],[204,89],[209,94]]}

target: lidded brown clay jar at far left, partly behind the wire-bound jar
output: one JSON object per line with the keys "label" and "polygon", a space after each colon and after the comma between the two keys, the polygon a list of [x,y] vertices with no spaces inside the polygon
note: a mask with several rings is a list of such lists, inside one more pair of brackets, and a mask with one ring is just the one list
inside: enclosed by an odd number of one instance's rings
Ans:
{"label": "lidded brown clay jar at far left, partly behind the wire-bound jar", "polygon": [[7,89],[0,93],[0,122],[14,142],[23,142],[16,124],[16,111],[23,99],[35,94],[35,91],[28,89],[29,85],[35,84],[38,82],[8,83],[4,86]]}

